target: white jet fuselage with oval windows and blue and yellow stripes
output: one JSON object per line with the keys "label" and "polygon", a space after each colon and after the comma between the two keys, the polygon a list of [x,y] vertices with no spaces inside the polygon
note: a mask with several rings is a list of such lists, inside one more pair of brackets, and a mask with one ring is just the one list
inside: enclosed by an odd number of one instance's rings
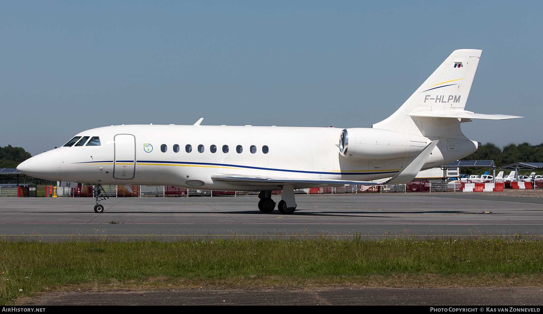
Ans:
{"label": "white jet fuselage with oval windows and blue and yellow stripes", "polygon": [[[248,189],[247,186],[214,181],[211,175],[228,173],[365,181],[392,177],[413,158],[346,158],[339,153],[337,146],[341,131],[339,128],[304,127],[116,125],[86,130],[76,135],[81,138],[99,137],[99,146],[86,146],[83,143],[81,146],[56,148],[35,156],[28,163],[23,162],[20,167],[34,177],[57,181],[266,191],[280,187],[260,185]],[[473,142],[463,141],[465,149],[462,152],[447,154],[445,150],[443,154],[441,147],[436,147],[426,161],[428,168],[456,160],[458,153],[468,155],[475,152],[477,147]],[[351,144],[352,147],[354,145]],[[223,149],[225,146],[228,148]],[[387,146],[390,147],[385,143],[383,147]],[[45,166],[46,169],[43,168]],[[298,184],[295,188],[309,186],[318,185]]]}

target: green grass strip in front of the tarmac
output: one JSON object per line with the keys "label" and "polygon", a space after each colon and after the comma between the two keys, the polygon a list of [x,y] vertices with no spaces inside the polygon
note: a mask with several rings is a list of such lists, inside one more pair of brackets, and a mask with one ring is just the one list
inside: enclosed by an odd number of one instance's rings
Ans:
{"label": "green grass strip in front of the tarmac", "polygon": [[[171,239],[174,240],[174,239]],[[49,289],[142,286],[515,285],[543,282],[543,241],[350,238],[0,243],[1,304]]]}

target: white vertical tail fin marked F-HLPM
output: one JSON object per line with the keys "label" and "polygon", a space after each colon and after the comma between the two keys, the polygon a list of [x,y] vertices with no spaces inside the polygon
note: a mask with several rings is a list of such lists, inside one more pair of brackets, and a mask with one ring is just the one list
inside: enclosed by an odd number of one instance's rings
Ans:
{"label": "white vertical tail fin marked F-HLPM", "polygon": [[480,57],[481,50],[454,51],[400,109],[372,127],[424,136],[424,131],[420,125],[416,125],[415,120],[425,118],[411,117],[410,114],[419,107],[422,108],[416,111],[464,110]]}

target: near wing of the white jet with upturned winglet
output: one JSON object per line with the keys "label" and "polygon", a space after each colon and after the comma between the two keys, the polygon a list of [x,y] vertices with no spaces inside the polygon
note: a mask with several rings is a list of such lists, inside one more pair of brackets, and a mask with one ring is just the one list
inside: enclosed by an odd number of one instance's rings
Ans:
{"label": "near wing of the white jet with upturned winglet", "polygon": [[425,149],[423,149],[418,155],[405,165],[400,172],[396,173],[394,177],[385,182],[374,181],[352,181],[352,180],[325,180],[325,179],[305,179],[305,178],[280,178],[280,177],[266,177],[258,175],[244,175],[244,174],[230,174],[230,173],[216,173],[211,175],[213,181],[219,181],[224,184],[233,186],[274,186],[279,187],[282,185],[294,185],[296,189],[303,189],[307,187],[317,187],[326,185],[342,186],[345,184],[361,184],[361,185],[384,185],[384,184],[407,184],[415,178],[415,175],[419,173],[424,162],[430,156],[430,153],[437,145],[439,140],[432,141]]}

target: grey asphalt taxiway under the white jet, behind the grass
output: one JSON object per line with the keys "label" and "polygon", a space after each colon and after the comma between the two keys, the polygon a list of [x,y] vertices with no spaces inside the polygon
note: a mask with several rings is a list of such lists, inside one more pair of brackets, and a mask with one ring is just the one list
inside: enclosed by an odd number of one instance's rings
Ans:
{"label": "grey asphalt taxiway under the white jet, behind the grass", "polygon": [[[276,202],[279,197],[275,197]],[[256,196],[0,198],[0,235],[192,236],[543,234],[543,197],[472,193],[310,194],[292,215],[261,213]]]}

